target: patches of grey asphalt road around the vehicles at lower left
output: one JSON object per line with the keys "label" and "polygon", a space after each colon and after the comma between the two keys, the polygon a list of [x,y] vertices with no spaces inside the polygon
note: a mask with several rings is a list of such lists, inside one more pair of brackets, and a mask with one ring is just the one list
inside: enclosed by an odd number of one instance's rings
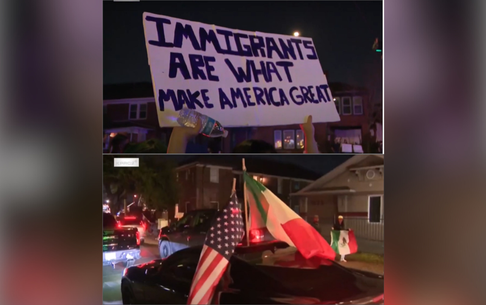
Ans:
{"label": "patches of grey asphalt road around the vehicles at lower left", "polygon": [[[145,243],[140,247],[142,258],[135,264],[143,264],[160,258],[159,249],[155,244]],[[115,268],[103,266],[103,304],[122,304],[120,282],[125,269],[124,264],[117,264]]]}

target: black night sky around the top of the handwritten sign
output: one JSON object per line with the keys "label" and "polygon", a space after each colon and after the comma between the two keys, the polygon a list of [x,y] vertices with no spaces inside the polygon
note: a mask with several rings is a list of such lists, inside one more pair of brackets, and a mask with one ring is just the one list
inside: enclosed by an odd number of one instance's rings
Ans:
{"label": "black night sky around the top of the handwritten sign", "polygon": [[314,40],[329,82],[381,93],[382,61],[372,50],[374,39],[382,37],[381,1],[104,1],[105,84],[151,82],[143,12],[247,31],[299,31]]}

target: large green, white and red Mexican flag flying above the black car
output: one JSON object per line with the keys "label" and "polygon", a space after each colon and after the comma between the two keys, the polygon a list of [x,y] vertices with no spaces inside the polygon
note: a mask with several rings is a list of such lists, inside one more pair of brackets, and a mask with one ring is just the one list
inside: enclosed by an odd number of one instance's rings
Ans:
{"label": "large green, white and red Mexican flag flying above the black car", "polygon": [[250,229],[266,227],[275,239],[297,248],[306,259],[320,257],[334,260],[336,254],[319,232],[263,184],[246,172],[243,176],[250,211]]}

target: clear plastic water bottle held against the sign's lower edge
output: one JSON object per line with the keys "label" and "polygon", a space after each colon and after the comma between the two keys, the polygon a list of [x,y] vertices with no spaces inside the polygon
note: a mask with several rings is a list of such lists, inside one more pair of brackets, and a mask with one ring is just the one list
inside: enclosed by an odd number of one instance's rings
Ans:
{"label": "clear plastic water bottle held against the sign's lower edge", "polygon": [[177,123],[183,127],[196,128],[197,119],[199,118],[201,119],[201,130],[199,130],[199,133],[202,133],[206,137],[210,138],[226,138],[228,135],[228,131],[224,130],[220,122],[208,117],[207,115],[188,108],[183,108],[181,111],[179,111]]}

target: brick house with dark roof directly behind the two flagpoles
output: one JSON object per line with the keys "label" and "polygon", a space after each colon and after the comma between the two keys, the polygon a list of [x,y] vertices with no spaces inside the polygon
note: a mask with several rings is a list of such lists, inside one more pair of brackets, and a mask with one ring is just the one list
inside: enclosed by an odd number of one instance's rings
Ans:
{"label": "brick house with dark roof directly behind the two flagpoles", "polygon": [[[287,204],[290,194],[301,190],[317,178],[318,174],[296,165],[279,163],[269,158],[245,159],[247,173],[263,183]],[[243,199],[242,158],[237,156],[198,156],[176,169],[180,185],[179,211],[223,207],[236,178],[236,194]],[[169,211],[172,216],[173,212]]]}

